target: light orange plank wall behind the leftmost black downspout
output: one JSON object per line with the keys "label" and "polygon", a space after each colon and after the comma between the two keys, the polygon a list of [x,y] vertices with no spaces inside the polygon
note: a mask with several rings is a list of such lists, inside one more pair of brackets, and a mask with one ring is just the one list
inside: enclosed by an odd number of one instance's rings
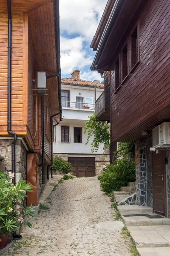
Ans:
{"label": "light orange plank wall behind the leftmost black downspout", "polygon": [[[12,14],[12,131],[26,134],[23,120],[23,13]],[[0,11],[0,135],[7,133],[8,15]]]}

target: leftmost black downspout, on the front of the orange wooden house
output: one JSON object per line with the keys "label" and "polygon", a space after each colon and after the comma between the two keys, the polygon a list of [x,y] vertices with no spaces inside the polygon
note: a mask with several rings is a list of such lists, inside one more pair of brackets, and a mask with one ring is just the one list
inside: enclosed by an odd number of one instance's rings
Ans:
{"label": "leftmost black downspout, on the front of the orange wooden house", "polygon": [[8,134],[14,137],[12,140],[12,173],[14,173],[15,184],[15,143],[17,141],[17,134],[11,131],[11,43],[12,43],[12,15],[11,15],[11,0],[7,0],[8,10],[8,115],[7,115],[7,129]]}

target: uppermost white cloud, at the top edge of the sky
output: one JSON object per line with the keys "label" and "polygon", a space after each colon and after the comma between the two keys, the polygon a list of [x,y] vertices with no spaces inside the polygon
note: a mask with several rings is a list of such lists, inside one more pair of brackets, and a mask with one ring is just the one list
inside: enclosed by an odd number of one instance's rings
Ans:
{"label": "uppermost white cloud, at the top edge of the sky", "polygon": [[80,34],[92,41],[107,0],[60,1],[60,29],[68,34]]}

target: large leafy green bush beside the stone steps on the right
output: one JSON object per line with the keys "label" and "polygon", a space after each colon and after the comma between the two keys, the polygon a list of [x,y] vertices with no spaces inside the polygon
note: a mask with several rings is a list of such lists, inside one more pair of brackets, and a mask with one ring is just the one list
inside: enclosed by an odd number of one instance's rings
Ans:
{"label": "large leafy green bush beside the stone steps on the right", "polygon": [[100,186],[105,192],[119,191],[121,186],[127,186],[127,182],[136,181],[135,162],[128,163],[125,159],[116,160],[116,165],[108,165],[102,176],[98,176]]}

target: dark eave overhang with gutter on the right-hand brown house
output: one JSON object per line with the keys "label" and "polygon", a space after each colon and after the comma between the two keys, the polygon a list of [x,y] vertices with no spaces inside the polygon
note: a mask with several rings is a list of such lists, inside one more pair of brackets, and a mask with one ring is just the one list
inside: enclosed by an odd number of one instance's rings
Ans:
{"label": "dark eave overhang with gutter on the right-hand brown house", "polygon": [[128,28],[141,12],[145,0],[116,0],[111,15],[102,34],[91,70],[101,73],[110,70],[122,42],[127,37]]}

